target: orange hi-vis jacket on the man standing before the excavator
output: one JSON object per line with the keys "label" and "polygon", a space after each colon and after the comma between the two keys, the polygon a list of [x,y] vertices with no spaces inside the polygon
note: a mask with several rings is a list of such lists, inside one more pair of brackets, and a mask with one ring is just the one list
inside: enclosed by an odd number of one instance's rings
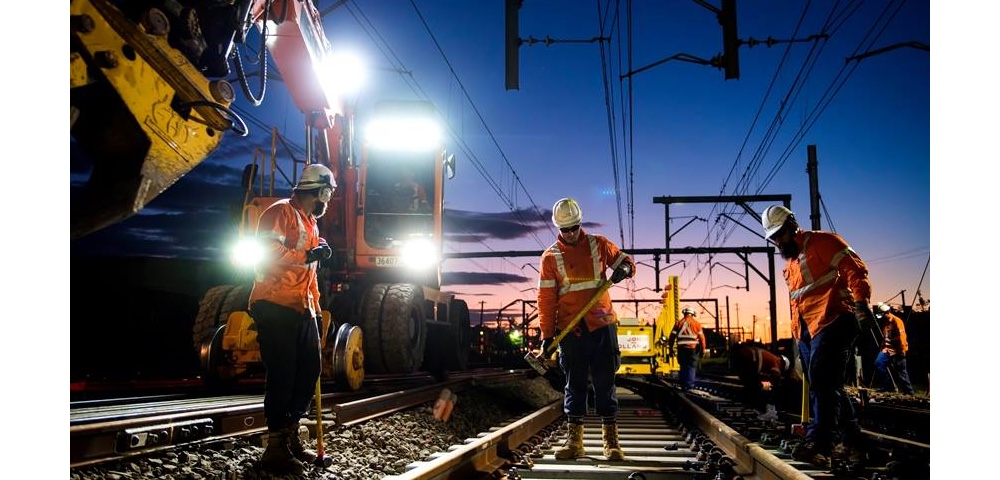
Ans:
{"label": "orange hi-vis jacket on the man standing before the excavator", "polygon": [[316,217],[294,198],[278,200],[261,213],[257,240],[266,243],[268,253],[257,267],[250,304],[268,300],[319,315],[319,262],[306,264],[306,253],[319,246]]}

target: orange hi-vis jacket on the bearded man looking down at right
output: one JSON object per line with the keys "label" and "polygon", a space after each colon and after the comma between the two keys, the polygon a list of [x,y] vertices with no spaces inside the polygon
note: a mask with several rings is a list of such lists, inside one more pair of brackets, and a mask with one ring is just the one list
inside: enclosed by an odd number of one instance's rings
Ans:
{"label": "orange hi-vis jacket on the bearded man looking down at right", "polygon": [[795,235],[799,256],[785,264],[792,314],[792,336],[801,338],[799,318],[815,337],[838,316],[854,312],[854,302],[871,298],[868,266],[844,239],[834,233],[800,230]]}

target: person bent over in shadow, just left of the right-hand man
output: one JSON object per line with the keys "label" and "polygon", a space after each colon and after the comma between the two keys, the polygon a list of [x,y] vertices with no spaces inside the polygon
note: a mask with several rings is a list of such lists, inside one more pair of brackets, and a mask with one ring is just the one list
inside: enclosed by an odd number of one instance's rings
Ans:
{"label": "person bent over in shadow, just left of the right-hand man", "polygon": [[[733,346],[729,352],[729,370],[743,385],[744,400],[767,419],[777,420],[777,405],[791,392],[801,398],[802,377],[786,355],[778,355],[752,343]],[[770,385],[764,388],[764,382]]]}

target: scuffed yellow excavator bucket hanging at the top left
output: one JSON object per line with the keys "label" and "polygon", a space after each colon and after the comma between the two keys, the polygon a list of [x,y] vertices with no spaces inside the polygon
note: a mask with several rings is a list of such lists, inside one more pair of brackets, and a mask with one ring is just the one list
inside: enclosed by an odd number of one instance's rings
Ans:
{"label": "scuffed yellow excavator bucket hanging at the top left", "polygon": [[245,124],[232,86],[168,44],[159,10],[136,24],[108,0],[72,0],[70,20],[70,136],[90,164],[72,199],[78,238],[138,212]]}

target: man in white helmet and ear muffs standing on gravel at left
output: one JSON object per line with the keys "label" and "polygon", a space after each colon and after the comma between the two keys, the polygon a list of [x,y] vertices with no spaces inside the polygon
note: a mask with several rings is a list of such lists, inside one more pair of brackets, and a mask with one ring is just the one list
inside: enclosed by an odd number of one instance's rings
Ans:
{"label": "man in white helmet and ear muffs standing on gravel at left", "polygon": [[316,219],[326,213],[336,187],[330,169],[307,165],[291,197],[264,210],[257,226],[257,239],[266,242],[268,252],[250,293],[266,375],[267,447],[259,465],[274,474],[301,475],[303,462],[316,458],[302,445],[298,431],[320,374],[316,271],[333,253],[319,236]]}

